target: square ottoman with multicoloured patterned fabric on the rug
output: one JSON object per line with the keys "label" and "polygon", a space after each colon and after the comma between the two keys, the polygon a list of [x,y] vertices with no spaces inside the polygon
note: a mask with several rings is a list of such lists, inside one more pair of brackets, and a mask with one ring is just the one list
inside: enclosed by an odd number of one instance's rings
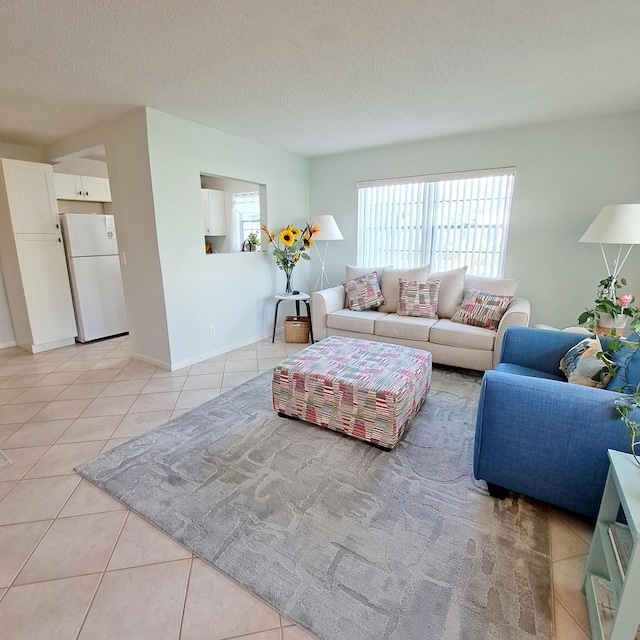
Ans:
{"label": "square ottoman with multicoloured patterned fabric on the rug", "polygon": [[391,450],[430,384],[428,351],[331,336],[273,370],[273,408]]}

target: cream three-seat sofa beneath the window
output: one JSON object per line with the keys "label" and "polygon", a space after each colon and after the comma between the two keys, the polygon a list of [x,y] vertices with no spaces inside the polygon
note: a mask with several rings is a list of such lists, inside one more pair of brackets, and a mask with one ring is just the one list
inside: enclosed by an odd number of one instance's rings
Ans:
{"label": "cream three-seat sofa beneath the window", "polygon": [[[433,362],[477,371],[493,369],[498,363],[502,336],[509,325],[527,326],[530,306],[514,297],[497,330],[452,322],[451,317],[470,287],[486,293],[514,295],[519,280],[481,278],[466,275],[466,267],[448,272],[361,268],[347,266],[347,280],[376,271],[387,304],[379,310],[352,311],[345,308],[342,285],[312,294],[311,316],[316,340],[327,336],[347,336],[391,342],[430,351]],[[417,275],[416,275],[417,274]],[[437,319],[399,316],[398,278],[440,280]]]}

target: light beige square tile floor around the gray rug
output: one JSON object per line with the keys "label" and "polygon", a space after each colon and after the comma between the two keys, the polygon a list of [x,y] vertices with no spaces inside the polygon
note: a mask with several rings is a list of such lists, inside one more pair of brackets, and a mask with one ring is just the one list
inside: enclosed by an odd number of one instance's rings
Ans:
{"label": "light beige square tile floor around the gray rug", "polygon": [[[0,468],[0,636],[310,638],[73,471],[304,346],[264,340],[174,372],[131,358],[127,337],[0,350],[0,450],[11,460]],[[585,640],[592,526],[554,509],[551,533],[556,637]]]}

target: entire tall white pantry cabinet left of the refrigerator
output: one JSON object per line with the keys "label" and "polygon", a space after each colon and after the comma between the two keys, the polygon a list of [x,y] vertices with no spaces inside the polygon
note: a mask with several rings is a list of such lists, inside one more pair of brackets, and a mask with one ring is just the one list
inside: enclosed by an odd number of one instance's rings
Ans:
{"label": "entire tall white pantry cabinet left of the refrigerator", "polygon": [[16,342],[32,353],[73,344],[76,324],[51,166],[15,160],[0,166],[0,259]]}

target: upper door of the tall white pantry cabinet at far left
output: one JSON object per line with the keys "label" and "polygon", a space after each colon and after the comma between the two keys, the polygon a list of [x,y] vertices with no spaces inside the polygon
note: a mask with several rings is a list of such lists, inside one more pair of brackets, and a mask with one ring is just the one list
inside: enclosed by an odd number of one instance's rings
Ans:
{"label": "upper door of the tall white pantry cabinet at far left", "polygon": [[51,165],[2,160],[13,233],[58,231],[58,203]]}

